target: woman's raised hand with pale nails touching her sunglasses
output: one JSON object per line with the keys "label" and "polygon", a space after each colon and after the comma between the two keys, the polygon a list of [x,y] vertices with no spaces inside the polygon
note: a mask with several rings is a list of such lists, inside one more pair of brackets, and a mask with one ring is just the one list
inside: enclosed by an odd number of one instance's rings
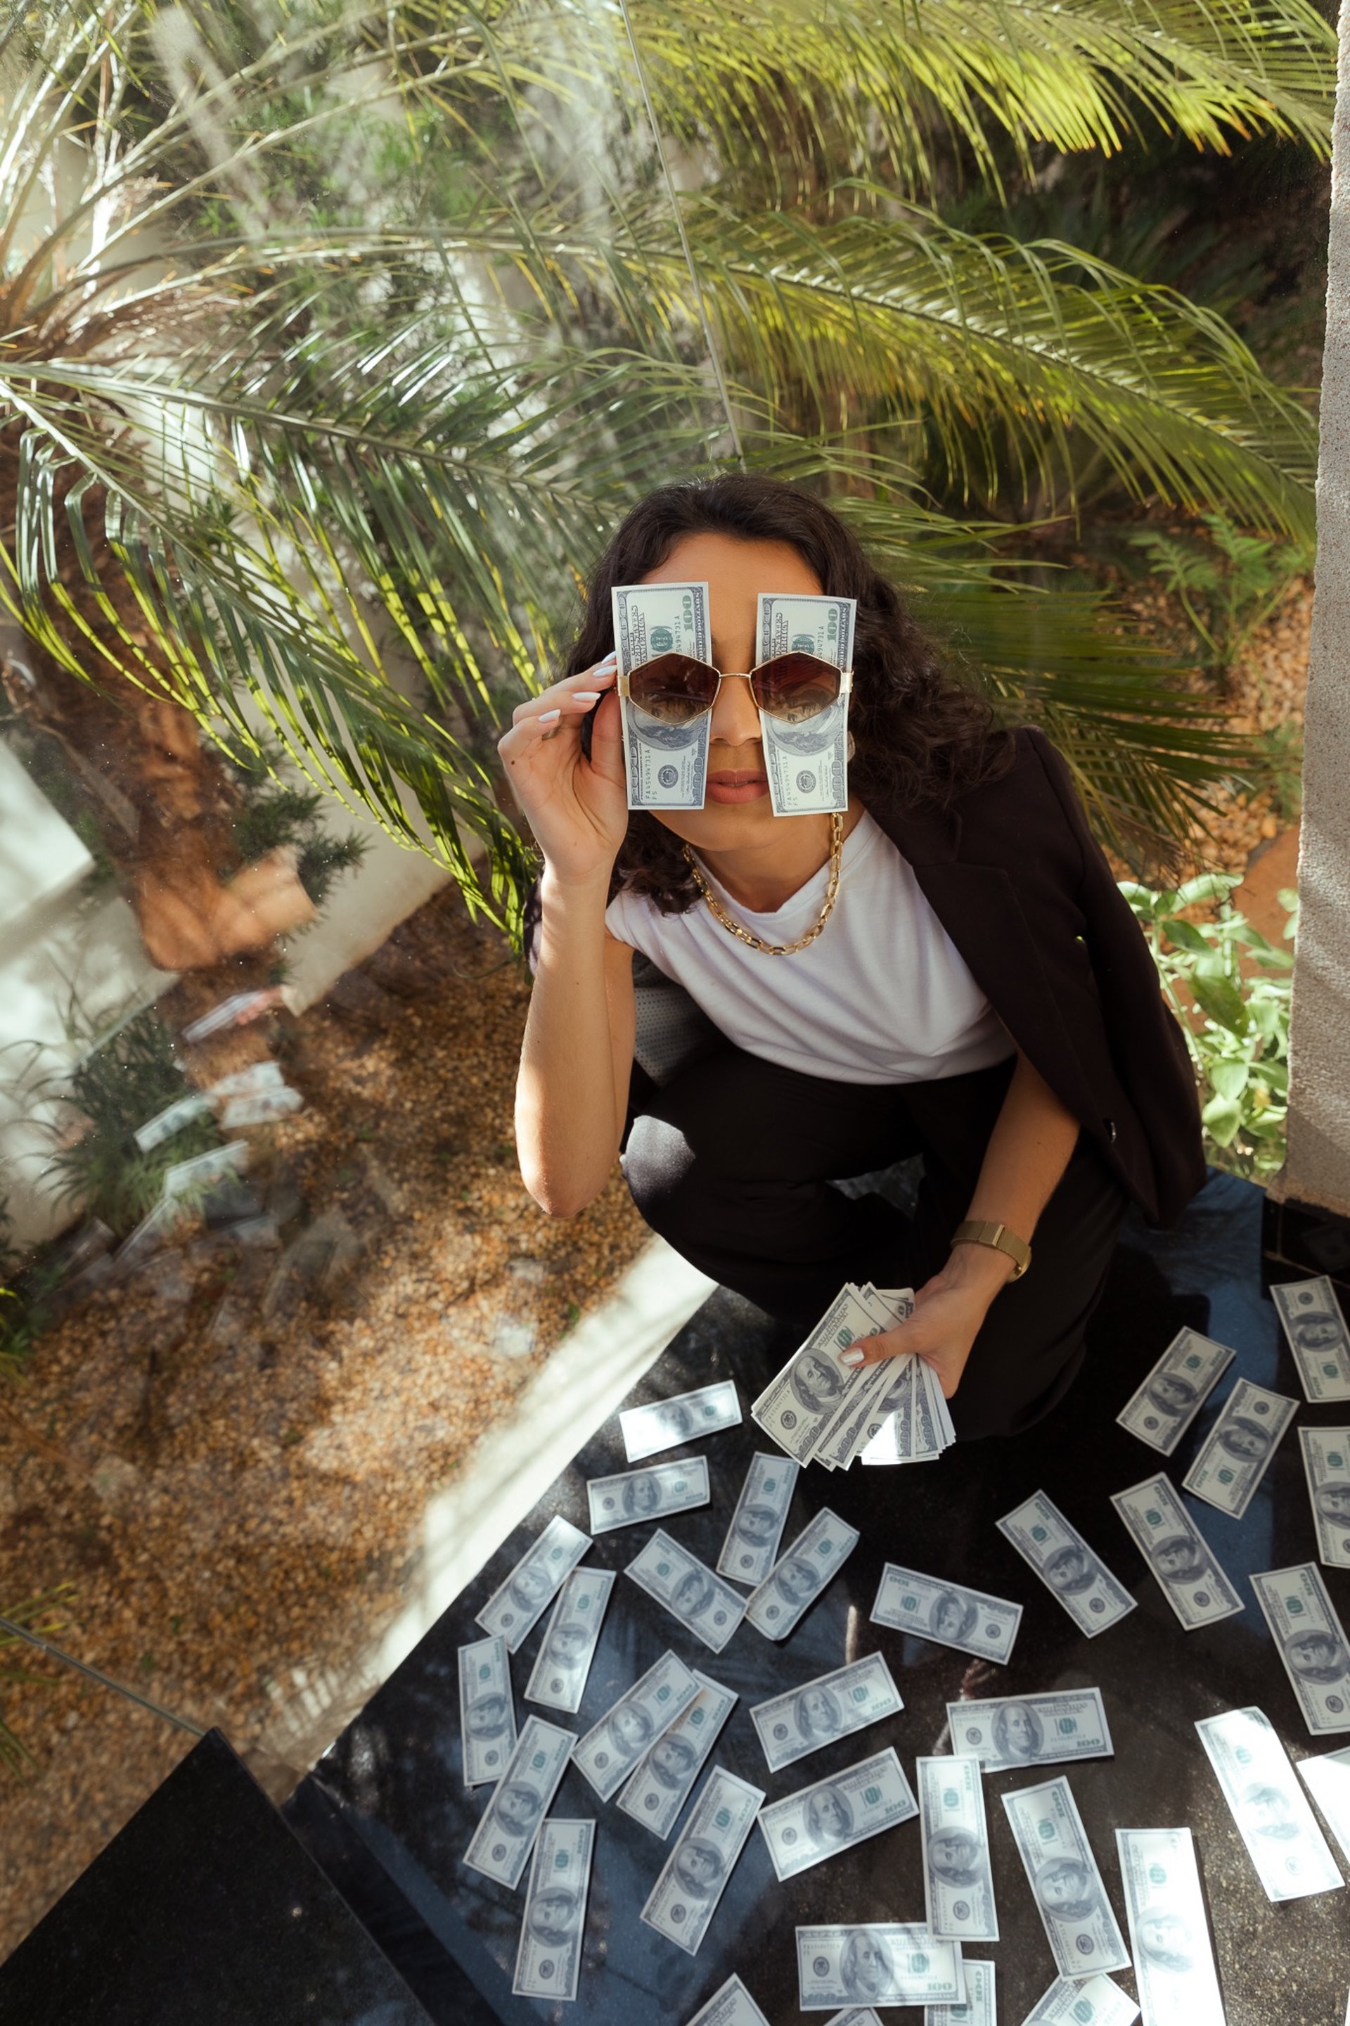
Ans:
{"label": "woman's raised hand with pale nails touching her sunglasses", "polygon": [[[609,877],[627,831],[627,786],[615,656],[607,654],[544,689],[512,715],[498,739],[510,790],[526,816],[544,865],[567,885]],[[581,752],[581,721],[601,697],[591,725],[591,758]]]}

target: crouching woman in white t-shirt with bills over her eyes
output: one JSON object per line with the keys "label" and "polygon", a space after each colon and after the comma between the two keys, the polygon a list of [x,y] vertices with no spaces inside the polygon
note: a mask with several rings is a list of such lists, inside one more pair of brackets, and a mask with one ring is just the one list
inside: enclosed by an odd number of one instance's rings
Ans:
{"label": "crouching woman in white t-shirt with bills over her eyes", "polygon": [[[609,592],[704,579],[706,806],[629,816]],[[759,592],[858,602],[838,835],[771,808]],[[741,474],[634,509],[569,673],[500,752],[544,859],[516,1092],[534,1199],[573,1216],[623,1151],[648,1224],[795,1339],[844,1280],[913,1287],[850,1363],[917,1351],[959,1438],[1048,1412],[1125,1205],[1166,1226],[1204,1179],[1182,1035],[1048,739],[943,673],[824,502]],[[664,1088],[634,1074],[636,950],[712,1021]],[[913,1216],[832,1187],[913,1153]]]}

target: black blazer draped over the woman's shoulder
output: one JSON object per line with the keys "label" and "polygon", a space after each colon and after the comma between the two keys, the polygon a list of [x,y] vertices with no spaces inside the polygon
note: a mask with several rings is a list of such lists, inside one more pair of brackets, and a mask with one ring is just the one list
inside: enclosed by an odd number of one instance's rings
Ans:
{"label": "black blazer draped over the woman's shoulder", "polygon": [[1014,742],[1014,768],[949,810],[870,814],[1016,1045],[1166,1228],[1204,1181],[1186,1041],[1069,768],[1042,731]]}

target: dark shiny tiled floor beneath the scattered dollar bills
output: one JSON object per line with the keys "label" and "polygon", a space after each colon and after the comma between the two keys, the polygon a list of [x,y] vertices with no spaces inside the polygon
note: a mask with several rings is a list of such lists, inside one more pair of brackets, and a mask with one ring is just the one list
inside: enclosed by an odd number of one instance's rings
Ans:
{"label": "dark shiny tiled floor beneath the scattered dollar bills", "polygon": [[[923,1469],[862,1471],[828,1477],[804,1473],[789,1534],[822,1505],[862,1530],[840,1578],[785,1647],[743,1627],[721,1655],[692,1641],[631,1582],[619,1582],[609,1607],[587,1696],[573,1728],[595,1716],[664,1647],[727,1682],[741,1702],[712,1763],[765,1787],[769,1797],[806,1785],[864,1752],[893,1742],[913,1777],[919,1752],[947,1750],[945,1702],[961,1694],[1099,1686],[1115,1738],[1115,1757],[1069,1769],[1107,1888],[1123,1921],[1115,1827],[1190,1823],[1214,1927],[1229,2026],[1342,2026],[1350,1981],[1350,1906],[1342,1894],[1271,1906],[1257,1884],[1218,1787],[1200,1750],[1194,1720],[1216,1710],[1259,1704],[1295,1759],[1346,1740],[1310,1740],[1255,1603],[1208,1631],[1184,1635],[1146,1574],[1109,1505],[1109,1493],[1154,1475],[1162,1459],[1121,1428],[1115,1414],[1182,1323],[1237,1349],[1216,1398],[1172,1457],[1180,1483],[1216,1402],[1237,1376],[1297,1394],[1275,1313],[1259,1289],[1259,1191],[1212,1177],[1180,1232],[1154,1236],[1127,1228],[1109,1295],[1093,1327],[1087,1370],[1063,1406],[1016,1443],[951,1451]],[[741,1382],[745,1404],[781,1361],[763,1317],[716,1295],[662,1355],[634,1398],[654,1398],[727,1374]],[[1342,1408],[1299,1410],[1301,1420],[1336,1422]],[[672,1522],[672,1532],[708,1562],[716,1560],[749,1455],[769,1447],[747,1420],[706,1445],[712,1505]],[[565,2008],[510,1996],[522,1894],[500,1890],[461,1864],[488,1791],[459,1783],[459,1712],[455,1647],[480,1637],[474,1611],[551,1513],[587,1524],[587,1477],[623,1467],[617,1420],[589,1443],[524,1528],[502,1548],[463,1599],[391,1678],[293,1803],[291,1819],[326,1842],[326,1862],[344,1874],[344,1890],[362,1911],[385,1902],[393,1951],[415,1959],[411,1975],[437,2020],[563,2018]],[[994,1522],[1034,1489],[1046,1489],[1115,1574],[1140,1609],[1095,1641],[1083,1639]],[[1289,1432],[1253,1499],[1233,1522],[1188,1501],[1243,1594],[1251,1570],[1316,1560],[1316,1540]],[[623,1568],[646,1528],[603,1536],[591,1560]],[[880,1564],[899,1560],[1018,1599],[1026,1613],[1006,1669],[988,1669],[959,1653],[868,1623]],[[1332,1599],[1350,1617],[1350,1578],[1326,1572]],[[542,1633],[536,1629],[512,1663],[518,1714],[522,1688]],[[858,1653],[880,1649],[905,1696],[905,1712],[862,1738],[840,1742],[779,1775],[767,1775],[749,1706],[810,1680]],[[551,1712],[542,1712],[551,1714]],[[561,1718],[569,1722],[569,1718]],[[1065,1771],[1065,1769],[1052,1769]],[[1052,1777],[1036,1775],[1036,1777]],[[1006,2026],[1032,2008],[1054,1965],[1012,1848],[998,1795],[1026,1775],[988,1779],[994,1872],[1002,1941],[972,1949],[1000,1967],[1000,2018]],[[690,1959],[638,1921],[660,1870],[658,1844],[613,1805],[601,1807],[579,1773],[569,1773],[555,1813],[597,1815],[599,1840],[587,1921],[577,2018],[587,2026],[662,2026],[686,2020],[739,1969],[773,2026],[801,2018],[795,1998],[793,1925],[804,1921],[921,1921],[919,1827],[905,1823],[779,1886],[759,1834],[751,1838],[700,1953]],[[322,1817],[322,1819],[320,1819]],[[346,1840],[346,1856],[342,1842]],[[336,1852],[336,1856],[334,1856]],[[374,1864],[370,1860],[376,1860]],[[342,1878],[340,1878],[342,1882]],[[397,1888],[397,1890],[395,1890]],[[401,1894],[401,1900],[399,1900]],[[401,1904],[399,1919],[389,1902]],[[376,1906],[378,1911],[378,1906]],[[439,1949],[445,1957],[437,1971]],[[463,1977],[474,1990],[466,1994]],[[1131,1985],[1129,1973],[1121,1983]],[[911,2014],[917,2016],[917,2014]]]}

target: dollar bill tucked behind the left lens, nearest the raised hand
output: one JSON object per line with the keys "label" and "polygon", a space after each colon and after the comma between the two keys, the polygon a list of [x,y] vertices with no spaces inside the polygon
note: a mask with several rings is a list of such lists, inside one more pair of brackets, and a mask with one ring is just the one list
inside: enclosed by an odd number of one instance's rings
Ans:
{"label": "dollar bill tucked behind the left lens, nearest the raised hand", "polygon": [[[658,654],[710,660],[706,583],[617,583],[613,588],[613,646],[619,675],[631,675]],[[702,808],[708,780],[712,713],[692,725],[668,725],[627,697],[623,719],[623,772],[629,808]]]}

